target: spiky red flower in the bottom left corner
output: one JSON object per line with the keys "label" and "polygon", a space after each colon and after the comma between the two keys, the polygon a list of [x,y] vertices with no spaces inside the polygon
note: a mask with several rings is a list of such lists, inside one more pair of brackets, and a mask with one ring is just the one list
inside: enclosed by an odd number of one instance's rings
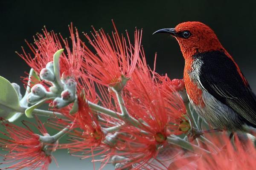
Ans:
{"label": "spiky red flower in the bottom left corner", "polygon": [[[12,164],[6,169],[48,169],[53,157],[50,154],[51,151],[44,149],[45,144],[39,141],[39,135],[33,133],[26,124],[24,125],[27,129],[6,121],[3,121],[2,125],[6,129],[6,133],[0,133],[6,136],[7,139],[0,138],[0,146],[9,153],[2,155],[4,162],[1,164]],[[48,136],[44,125],[39,120],[38,125],[35,126],[44,136]]]}

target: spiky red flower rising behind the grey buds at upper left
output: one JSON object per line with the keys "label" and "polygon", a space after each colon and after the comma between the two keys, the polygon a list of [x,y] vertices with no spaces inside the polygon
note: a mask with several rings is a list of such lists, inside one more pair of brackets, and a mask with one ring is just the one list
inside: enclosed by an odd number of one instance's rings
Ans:
{"label": "spiky red flower rising behind the grey buds at upper left", "polygon": [[69,30],[72,48],[70,48],[68,40],[64,39],[61,34],[58,36],[54,31],[48,32],[47,29],[44,28],[43,34],[38,33],[34,36],[35,45],[29,44],[29,42],[26,41],[34,57],[32,57],[31,54],[26,53],[23,47],[23,54],[17,54],[39,75],[41,70],[46,67],[47,63],[53,61],[53,54],[64,46],[67,55],[64,53],[61,54],[61,74],[63,74],[64,78],[67,76],[79,76],[83,55],[83,50],[80,44],[81,40],[79,38],[78,30],[75,29],[74,32],[72,23],[71,26],[69,26]]}

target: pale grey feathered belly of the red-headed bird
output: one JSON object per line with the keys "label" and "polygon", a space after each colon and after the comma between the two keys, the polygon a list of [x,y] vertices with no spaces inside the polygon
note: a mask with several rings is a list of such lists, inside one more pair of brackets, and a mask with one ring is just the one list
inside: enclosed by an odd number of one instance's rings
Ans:
{"label": "pale grey feathered belly of the red-headed bird", "polygon": [[240,130],[243,121],[241,117],[235,113],[227,105],[224,105],[206,90],[202,89],[202,98],[205,103],[205,106],[201,108],[198,105],[194,105],[192,100],[189,98],[192,106],[195,108],[195,111],[214,128],[221,130]]}

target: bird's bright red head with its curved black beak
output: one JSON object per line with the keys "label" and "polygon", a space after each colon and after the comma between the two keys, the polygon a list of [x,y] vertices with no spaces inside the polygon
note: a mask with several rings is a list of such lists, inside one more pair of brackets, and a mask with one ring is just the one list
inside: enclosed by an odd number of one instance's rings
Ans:
{"label": "bird's bright red head with its curved black beak", "polygon": [[196,53],[224,49],[212,29],[196,21],[180,23],[175,28],[160,29],[156,33],[168,33],[175,37],[185,59]]}

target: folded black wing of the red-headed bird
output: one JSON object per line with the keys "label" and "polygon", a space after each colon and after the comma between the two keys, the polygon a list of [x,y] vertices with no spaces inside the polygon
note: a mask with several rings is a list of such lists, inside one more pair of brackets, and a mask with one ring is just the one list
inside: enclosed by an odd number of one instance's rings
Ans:
{"label": "folded black wing of the red-headed bird", "polygon": [[199,80],[205,90],[243,118],[256,126],[256,97],[245,85],[235,63],[222,51],[195,54],[201,62]]}

